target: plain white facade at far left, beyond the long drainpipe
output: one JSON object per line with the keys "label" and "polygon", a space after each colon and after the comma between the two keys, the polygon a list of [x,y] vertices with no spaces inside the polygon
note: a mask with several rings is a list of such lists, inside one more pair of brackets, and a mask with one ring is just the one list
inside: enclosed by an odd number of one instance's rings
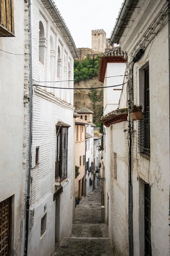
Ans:
{"label": "plain white facade at far left, beyond the long drainpipe", "polygon": [[[25,26],[28,25],[28,3],[16,0],[13,6],[14,37],[0,37],[0,240],[2,255],[8,252],[17,256],[23,255],[25,238],[27,162],[23,159],[23,147],[25,147],[27,128],[24,122],[24,110],[28,110],[27,99],[24,97],[24,86],[28,86],[29,72],[28,61],[27,63],[25,61],[29,56],[28,49],[25,49],[25,45],[28,44],[28,34],[25,31]],[[28,157],[27,151],[25,156]],[[9,199],[8,203],[7,199]],[[4,205],[6,205],[5,209],[3,209]],[[5,224],[5,229],[4,219],[9,220]],[[4,251],[3,245],[4,247],[8,245],[8,250]]]}

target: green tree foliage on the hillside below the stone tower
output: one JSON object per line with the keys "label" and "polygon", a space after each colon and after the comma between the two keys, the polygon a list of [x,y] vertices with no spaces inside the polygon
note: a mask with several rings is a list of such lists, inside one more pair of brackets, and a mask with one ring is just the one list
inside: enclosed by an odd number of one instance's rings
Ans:
{"label": "green tree foliage on the hillside below the stone tower", "polygon": [[74,81],[91,79],[98,76],[99,70],[99,55],[96,58],[90,58],[87,56],[79,63],[77,60],[74,61]]}

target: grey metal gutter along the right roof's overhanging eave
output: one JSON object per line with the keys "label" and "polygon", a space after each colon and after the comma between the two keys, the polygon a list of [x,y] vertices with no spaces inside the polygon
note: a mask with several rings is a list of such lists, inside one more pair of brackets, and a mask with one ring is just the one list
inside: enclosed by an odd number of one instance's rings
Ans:
{"label": "grey metal gutter along the right roof's overhanging eave", "polygon": [[115,42],[115,39],[120,31],[120,28],[123,24],[123,21],[127,15],[127,12],[129,10],[129,7],[131,6],[133,0],[126,0],[125,3],[123,4],[123,7],[121,9],[121,12],[120,12],[120,15],[118,17],[118,21],[116,22],[116,26],[111,34],[111,38],[110,38],[110,41],[109,41],[109,44],[110,45],[113,45],[114,42]]}

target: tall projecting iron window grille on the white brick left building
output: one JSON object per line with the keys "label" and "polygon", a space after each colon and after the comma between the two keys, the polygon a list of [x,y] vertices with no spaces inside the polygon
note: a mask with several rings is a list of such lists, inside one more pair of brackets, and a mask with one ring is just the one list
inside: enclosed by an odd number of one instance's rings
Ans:
{"label": "tall projecting iron window grille on the white brick left building", "polygon": [[68,127],[56,129],[55,180],[61,182],[67,178]]}

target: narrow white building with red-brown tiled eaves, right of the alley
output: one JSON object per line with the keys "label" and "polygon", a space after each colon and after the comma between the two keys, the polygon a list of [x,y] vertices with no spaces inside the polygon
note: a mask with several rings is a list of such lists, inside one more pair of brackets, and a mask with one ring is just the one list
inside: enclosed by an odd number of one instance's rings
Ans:
{"label": "narrow white building with red-brown tiled eaves, right of the alley", "polygon": [[126,52],[123,52],[121,47],[115,47],[102,54],[99,64],[99,77],[106,77],[100,79],[104,83],[104,114],[101,117],[101,122],[104,127],[102,175],[106,178],[103,182],[105,222],[108,223],[109,237],[113,246],[119,244],[120,237],[118,234],[123,237],[124,247],[121,248],[121,252],[118,249],[116,252],[123,255],[128,252],[128,208],[125,186],[126,168],[128,168],[126,159],[128,143],[127,134],[124,132],[128,115],[126,101],[125,106],[122,106],[121,109],[117,107],[122,88],[126,86],[126,84],[122,86],[126,60]]}

